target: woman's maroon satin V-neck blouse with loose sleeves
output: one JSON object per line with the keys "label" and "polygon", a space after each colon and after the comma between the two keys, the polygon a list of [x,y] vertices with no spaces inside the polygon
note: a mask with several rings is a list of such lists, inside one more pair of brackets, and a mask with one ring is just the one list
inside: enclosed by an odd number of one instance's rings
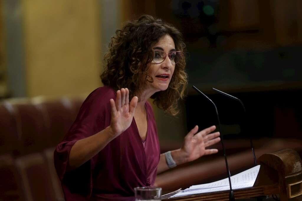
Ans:
{"label": "woman's maroon satin V-neck blouse with loose sleeves", "polygon": [[145,148],[133,118],[130,127],[92,159],[66,171],[73,144],[110,125],[111,98],[115,100],[116,94],[106,86],[89,94],[65,138],[57,145],[54,161],[66,201],[134,200],[134,187],[154,185],[160,150],[153,110],[148,102]]}

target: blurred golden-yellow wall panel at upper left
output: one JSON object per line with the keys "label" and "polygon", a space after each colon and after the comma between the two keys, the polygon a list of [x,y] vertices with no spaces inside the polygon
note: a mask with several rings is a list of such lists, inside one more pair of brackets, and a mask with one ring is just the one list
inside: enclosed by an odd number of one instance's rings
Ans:
{"label": "blurred golden-yellow wall panel at upper left", "polygon": [[101,86],[98,2],[22,1],[27,96],[76,95]]}

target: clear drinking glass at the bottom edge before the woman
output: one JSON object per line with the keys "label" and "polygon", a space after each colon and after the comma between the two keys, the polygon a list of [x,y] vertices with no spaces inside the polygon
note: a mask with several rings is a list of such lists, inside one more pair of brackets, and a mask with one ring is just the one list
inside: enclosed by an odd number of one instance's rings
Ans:
{"label": "clear drinking glass at the bottom edge before the woman", "polygon": [[160,196],[162,195],[162,188],[158,187],[136,187],[134,188],[135,191],[135,200],[153,200],[158,201],[161,200]]}

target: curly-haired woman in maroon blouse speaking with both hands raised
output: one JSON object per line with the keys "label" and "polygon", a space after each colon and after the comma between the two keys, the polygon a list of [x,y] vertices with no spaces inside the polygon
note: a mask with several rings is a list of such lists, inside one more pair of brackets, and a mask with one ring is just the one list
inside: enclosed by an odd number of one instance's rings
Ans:
{"label": "curly-haired woman in maroon blouse speaking with both hands raised", "polygon": [[153,186],[157,173],[217,153],[205,149],[220,141],[218,132],[210,134],[215,126],[198,133],[195,126],[180,149],[160,154],[147,100],[177,113],[187,84],[184,48],[175,27],[151,16],[117,30],[105,55],[104,87],[89,94],[54,153],[66,201],[133,200],[133,188]]}

